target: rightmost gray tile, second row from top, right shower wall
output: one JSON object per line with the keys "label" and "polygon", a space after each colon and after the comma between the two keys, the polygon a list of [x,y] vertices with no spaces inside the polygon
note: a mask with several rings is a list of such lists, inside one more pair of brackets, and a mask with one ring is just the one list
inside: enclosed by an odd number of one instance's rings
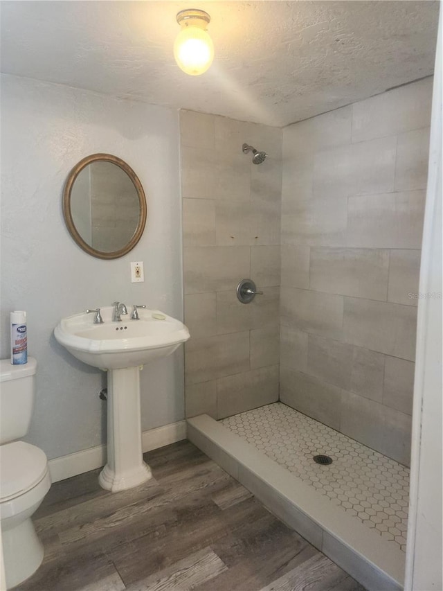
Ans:
{"label": "rightmost gray tile, second row from top, right shower wall", "polygon": [[397,191],[426,189],[428,181],[429,127],[400,134],[395,164]]}

